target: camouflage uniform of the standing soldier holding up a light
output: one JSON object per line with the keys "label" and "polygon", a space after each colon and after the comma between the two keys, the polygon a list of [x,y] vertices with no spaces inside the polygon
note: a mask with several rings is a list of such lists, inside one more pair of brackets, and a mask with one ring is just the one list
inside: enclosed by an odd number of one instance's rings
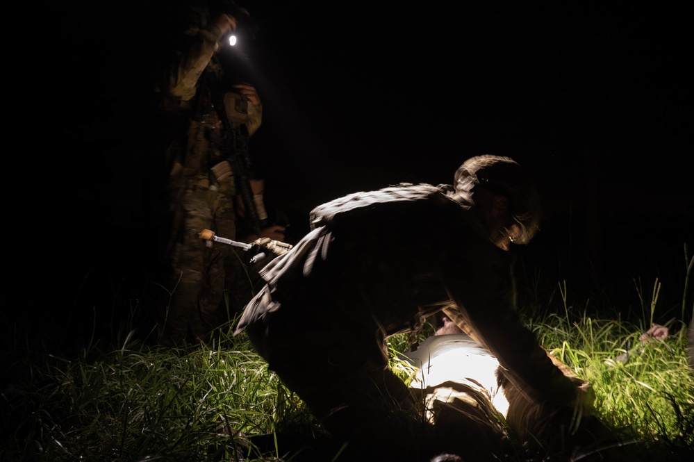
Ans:
{"label": "camouflage uniform of the standing soldier holding up a light", "polygon": [[[215,98],[214,89],[220,87],[223,76],[216,54],[222,34],[208,24],[207,10],[192,9],[191,13],[185,47],[164,67],[156,84],[160,109],[174,131],[166,148],[169,231],[163,236],[170,297],[157,307],[164,345],[209,340],[211,331],[228,320],[219,309],[224,290],[235,290],[236,281],[245,277],[242,252],[226,245],[206,247],[198,236],[210,229],[225,238],[236,237],[234,176],[220,181],[210,171],[224,165],[220,163],[226,158],[221,149],[223,124],[215,104],[224,101],[231,128],[248,136],[262,119],[262,106],[254,106],[241,94],[226,92]],[[244,290],[247,300],[251,294]]]}

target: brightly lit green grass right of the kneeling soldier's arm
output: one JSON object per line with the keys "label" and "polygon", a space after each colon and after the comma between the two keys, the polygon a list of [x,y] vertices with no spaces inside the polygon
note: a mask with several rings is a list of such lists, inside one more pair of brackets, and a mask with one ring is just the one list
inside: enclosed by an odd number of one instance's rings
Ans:
{"label": "brightly lit green grass right of the kneeling soldier's arm", "polygon": [[641,341],[629,322],[586,317],[569,326],[550,317],[543,345],[593,383],[602,420],[634,440],[694,445],[694,380],[686,324],[663,340]]}

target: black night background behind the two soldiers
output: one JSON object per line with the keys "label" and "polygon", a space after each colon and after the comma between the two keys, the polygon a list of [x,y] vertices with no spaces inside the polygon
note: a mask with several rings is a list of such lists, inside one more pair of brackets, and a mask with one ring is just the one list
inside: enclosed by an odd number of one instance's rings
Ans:
{"label": "black night background behind the two soldiers", "polygon": [[[46,42],[19,52],[14,119],[31,135],[5,185],[3,300],[82,316],[151,282],[152,88],[176,1],[45,3],[32,30]],[[661,317],[679,318],[694,254],[684,6],[276,3],[241,4],[255,34],[247,76],[264,105],[251,154],[268,205],[290,217],[290,242],[324,201],[450,183],[470,156],[507,155],[543,199],[542,230],[518,249],[529,286],[566,281],[579,300],[628,311],[641,305],[636,287],[650,302],[658,279]]]}

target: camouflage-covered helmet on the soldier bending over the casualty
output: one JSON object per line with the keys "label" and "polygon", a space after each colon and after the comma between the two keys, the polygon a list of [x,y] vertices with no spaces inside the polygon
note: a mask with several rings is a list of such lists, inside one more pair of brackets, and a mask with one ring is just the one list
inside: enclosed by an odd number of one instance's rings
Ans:
{"label": "camouflage-covered helmet on the soldier bending over the casualty", "polygon": [[454,187],[456,192],[469,195],[476,185],[511,201],[511,214],[522,230],[514,242],[530,242],[540,229],[540,197],[529,174],[510,157],[472,157],[458,167]]}

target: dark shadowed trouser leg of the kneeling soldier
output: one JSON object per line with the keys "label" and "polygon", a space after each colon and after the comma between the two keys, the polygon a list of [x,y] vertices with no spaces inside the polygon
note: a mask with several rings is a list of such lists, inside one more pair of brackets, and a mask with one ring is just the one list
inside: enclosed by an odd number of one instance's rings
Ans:
{"label": "dark shadowed trouser leg of the kneeling soldier", "polygon": [[374,323],[362,319],[337,327],[287,312],[292,309],[282,306],[266,313],[246,332],[324,428],[349,443],[355,456],[367,457],[363,460],[426,460],[433,429],[420,403],[388,369]]}

